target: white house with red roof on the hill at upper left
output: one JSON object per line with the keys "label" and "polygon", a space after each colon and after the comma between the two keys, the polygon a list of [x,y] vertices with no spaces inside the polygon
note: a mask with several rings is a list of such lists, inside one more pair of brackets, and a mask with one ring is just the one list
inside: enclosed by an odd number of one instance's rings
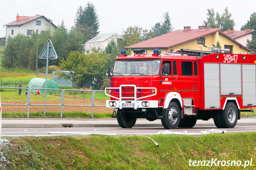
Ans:
{"label": "white house with red roof on the hill at upper left", "polygon": [[31,35],[31,33],[36,30],[38,30],[38,33],[41,33],[41,31],[46,30],[47,28],[54,31],[54,28],[56,27],[43,15],[32,17],[17,15],[15,21],[5,24],[4,26],[6,26],[6,37],[8,35],[15,36],[18,33]]}

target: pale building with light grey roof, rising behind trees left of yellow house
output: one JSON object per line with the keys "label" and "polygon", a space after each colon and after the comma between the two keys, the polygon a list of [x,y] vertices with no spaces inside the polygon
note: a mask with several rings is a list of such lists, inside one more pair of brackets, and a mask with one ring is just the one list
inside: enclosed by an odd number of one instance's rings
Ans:
{"label": "pale building with light grey roof, rising behind trees left of yellow house", "polygon": [[117,40],[123,39],[123,37],[122,35],[117,35],[117,33],[99,34],[85,43],[85,54],[90,53],[93,47],[96,49],[100,48],[101,51],[104,51],[111,39],[117,43]]}

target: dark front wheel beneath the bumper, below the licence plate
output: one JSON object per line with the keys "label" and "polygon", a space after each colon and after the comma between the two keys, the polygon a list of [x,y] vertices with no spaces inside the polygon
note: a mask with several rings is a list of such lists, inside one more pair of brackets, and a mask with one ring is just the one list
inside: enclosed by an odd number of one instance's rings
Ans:
{"label": "dark front wheel beneath the bumper, below the licence plate", "polygon": [[132,128],[136,123],[136,116],[131,112],[117,111],[117,122],[122,128]]}

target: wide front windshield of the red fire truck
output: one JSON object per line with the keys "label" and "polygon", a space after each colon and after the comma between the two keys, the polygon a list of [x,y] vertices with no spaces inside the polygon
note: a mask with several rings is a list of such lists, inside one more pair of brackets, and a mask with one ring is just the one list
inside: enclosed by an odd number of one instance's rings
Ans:
{"label": "wide front windshield of the red fire truck", "polygon": [[158,75],[160,60],[117,60],[113,69],[114,76]]}

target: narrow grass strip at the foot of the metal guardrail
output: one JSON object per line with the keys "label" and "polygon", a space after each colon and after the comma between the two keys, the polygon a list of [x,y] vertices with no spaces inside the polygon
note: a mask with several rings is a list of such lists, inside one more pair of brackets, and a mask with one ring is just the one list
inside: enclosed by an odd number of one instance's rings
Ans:
{"label": "narrow grass strip at the foot of the metal guardrail", "polygon": [[[82,111],[72,111],[72,112],[63,112],[62,118],[69,119],[88,119],[91,118],[91,113],[85,113]],[[93,113],[93,118],[96,119],[106,119],[111,118],[112,113]],[[3,118],[27,118],[27,113],[2,113]],[[30,112],[29,118],[61,118],[60,112]]]}

